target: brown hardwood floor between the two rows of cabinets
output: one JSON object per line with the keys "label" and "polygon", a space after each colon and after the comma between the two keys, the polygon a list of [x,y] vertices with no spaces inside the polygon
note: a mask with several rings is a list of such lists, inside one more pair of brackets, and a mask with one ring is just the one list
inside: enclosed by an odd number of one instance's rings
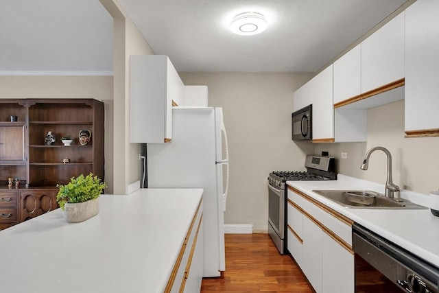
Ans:
{"label": "brown hardwood floor between the two rows of cabinets", "polygon": [[268,234],[226,234],[226,271],[205,278],[202,293],[313,292],[289,255],[280,255]]}

